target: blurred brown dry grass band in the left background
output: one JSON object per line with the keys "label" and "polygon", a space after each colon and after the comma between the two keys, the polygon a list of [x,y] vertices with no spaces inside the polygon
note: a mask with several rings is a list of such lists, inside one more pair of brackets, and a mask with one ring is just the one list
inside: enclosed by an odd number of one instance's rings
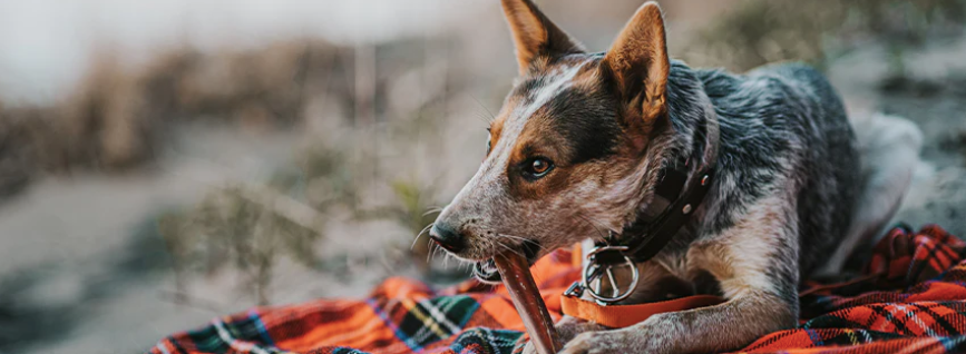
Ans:
{"label": "blurred brown dry grass band in the left background", "polygon": [[0,134],[21,136],[21,148],[3,150],[2,158],[18,155],[31,171],[123,170],[149,161],[178,120],[292,126],[303,118],[306,97],[351,98],[350,70],[336,60],[344,50],[323,41],[214,55],[177,48],[137,69],[103,51],[55,105],[0,107]]}

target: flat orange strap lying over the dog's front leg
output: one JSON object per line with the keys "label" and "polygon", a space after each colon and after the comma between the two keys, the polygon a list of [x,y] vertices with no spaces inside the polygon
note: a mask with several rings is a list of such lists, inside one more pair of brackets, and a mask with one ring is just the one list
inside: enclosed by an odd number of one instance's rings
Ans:
{"label": "flat orange strap lying over the dog's front leg", "polygon": [[630,327],[660,313],[713,306],[723,302],[724,298],[720,296],[694,295],[656,303],[604,306],[576,296],[560,295],[560,305],[565,315],[593,321],[612,328]]}

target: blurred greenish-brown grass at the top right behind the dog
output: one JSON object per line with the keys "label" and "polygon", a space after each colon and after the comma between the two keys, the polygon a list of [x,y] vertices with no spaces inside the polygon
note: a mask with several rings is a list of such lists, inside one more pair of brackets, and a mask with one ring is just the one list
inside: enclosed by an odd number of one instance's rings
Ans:
{"label": "blurred greenish-brown grass at the top right behind the dog", "polygon": [[784,60],[821,68],[857,46],[882,41],[900,75],[902,50],[927,36],[959,35],[964,21],[963,0],[752,0],[700,30],[684,59],[738,71]]}

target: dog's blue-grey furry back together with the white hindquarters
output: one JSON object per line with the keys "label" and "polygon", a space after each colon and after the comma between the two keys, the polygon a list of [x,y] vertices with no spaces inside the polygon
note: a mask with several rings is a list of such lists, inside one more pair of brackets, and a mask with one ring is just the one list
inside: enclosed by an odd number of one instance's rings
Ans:
{"label": "dog's blue-grey furry back together with the white hindquarters", "polygon": [[722,148],[730,149],[725,155],[754,161],[735,166],[749,173],[743,183],[754,185],[762,179],[755,174],[771,165],[792,169],[802,184],[797,204],[801,274],[840,272],[901,204],[921,132],[906,119],[876,114],[852,119],[853,134],[835,89],[803,65],[772,65],[744,76],[699,71],[699,77],[716,107]]}

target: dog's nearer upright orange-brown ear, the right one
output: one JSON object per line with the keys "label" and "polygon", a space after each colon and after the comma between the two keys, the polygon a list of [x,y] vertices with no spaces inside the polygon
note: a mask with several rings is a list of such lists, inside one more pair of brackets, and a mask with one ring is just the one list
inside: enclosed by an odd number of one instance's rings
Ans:
{"label": "dog's nearer upright orange-brown ear, the right one", "polygon": [[645,124],[665,111],[664,91],[671,71],[666,41],[661,8],[647,2],[637,9],[604,56],[605,70],[613,76],[625,101],[641,108]]}

